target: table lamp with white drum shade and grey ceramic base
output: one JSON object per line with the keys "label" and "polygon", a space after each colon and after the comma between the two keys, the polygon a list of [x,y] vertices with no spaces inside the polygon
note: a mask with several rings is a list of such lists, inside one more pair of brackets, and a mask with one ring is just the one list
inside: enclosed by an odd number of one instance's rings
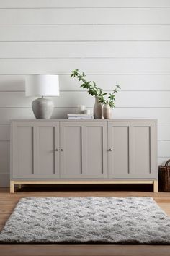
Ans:
{"label": "table lamp with white drum shade and grey ceramic base", "polygon": [[59,96],[59,79],[56,74],[32,74],[25,80],[25,95],[37,96],[32,101],[32,111],[36,119],[50,119],[53,114],[53,101],[45,96]]}

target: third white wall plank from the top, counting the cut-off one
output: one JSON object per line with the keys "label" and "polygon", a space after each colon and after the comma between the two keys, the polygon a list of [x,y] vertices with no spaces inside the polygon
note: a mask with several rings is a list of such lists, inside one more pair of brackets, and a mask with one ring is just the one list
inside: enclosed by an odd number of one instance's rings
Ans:
{"label": "third white wall plank from the top, counting the cut-off one", "polygon": [[170,40],[169,30],[170,25],[1,25],[0,41]]}

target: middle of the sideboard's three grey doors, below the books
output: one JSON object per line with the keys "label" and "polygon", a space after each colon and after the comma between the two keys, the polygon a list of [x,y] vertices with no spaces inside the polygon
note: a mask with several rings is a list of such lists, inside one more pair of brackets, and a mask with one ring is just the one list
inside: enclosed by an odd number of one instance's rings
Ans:
{"label": "middle of the sideboard's three grey doors, below the books", "polygon": [[61,178],[107,178],[107,123],[61,122]]}

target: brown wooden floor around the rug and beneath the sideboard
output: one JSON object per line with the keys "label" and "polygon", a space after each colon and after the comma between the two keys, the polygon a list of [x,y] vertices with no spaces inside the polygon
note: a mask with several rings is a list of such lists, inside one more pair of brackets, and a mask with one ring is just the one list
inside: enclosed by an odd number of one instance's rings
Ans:
{"label": "brown wooden floor around the rug and beneath the sideboard", "polygon": [[[151,187],[139,186],[143,191],[132,191],[136,187],[123,187],[127,191],[119,191],[121,187],[97,187],[97,186],[59,186],[53,187],[24,187],[15,194],[9,194],[9,189],[0,189],[0,229],[9,218],[15,205],[22,197],[153,197],[158,205],[170,216],[170,193],[147,192]],[[66,190],[67,189],[67,190]],[[128,191],[131,189],[131,191]],[[138,189],[138,190],[139,190]],[[146,245],[0,245],[0,256],[168,256],[170,246],[146,246]]]}

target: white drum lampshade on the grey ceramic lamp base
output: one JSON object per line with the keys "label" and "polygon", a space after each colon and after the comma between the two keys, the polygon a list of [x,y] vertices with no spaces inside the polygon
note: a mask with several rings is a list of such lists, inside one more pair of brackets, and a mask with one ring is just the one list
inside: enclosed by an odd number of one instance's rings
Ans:
{"label": "white drum lampshade on the grey ceramic lamp base", "polygon": [[57,74],[32,74],[25,80],[26,96],[59,96],[59,79]]}

